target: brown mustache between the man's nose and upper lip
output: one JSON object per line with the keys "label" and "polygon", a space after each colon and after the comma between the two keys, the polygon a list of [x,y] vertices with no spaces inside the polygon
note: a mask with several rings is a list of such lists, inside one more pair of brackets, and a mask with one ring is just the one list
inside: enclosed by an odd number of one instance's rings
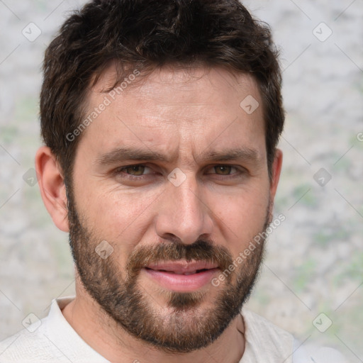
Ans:
{"label": "brown mustache between the man's nose and upper lip", "polygon": [[131,252],[126,263],[128,278],[132,279],[140,269],[147,267],[148,264],[179,260],[215,263],[222,271],[233,264],[230,252],[211,240],[197,240],[191,245],[184,245],[182,242],[162,242],[152,247],[141,246]]}

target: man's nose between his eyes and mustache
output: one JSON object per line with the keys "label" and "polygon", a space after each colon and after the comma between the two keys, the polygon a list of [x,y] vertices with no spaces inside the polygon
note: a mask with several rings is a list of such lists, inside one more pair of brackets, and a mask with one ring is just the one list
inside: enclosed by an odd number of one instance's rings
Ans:
{"label": "man's nose between his eyes and mustache", "polygon": [[179,186],[167,183],[157,210],[156,233],[160,238],[178,240],[186,245],[210,238],[213,230],[211,208],[203,201],[201,188],[191,175]]}

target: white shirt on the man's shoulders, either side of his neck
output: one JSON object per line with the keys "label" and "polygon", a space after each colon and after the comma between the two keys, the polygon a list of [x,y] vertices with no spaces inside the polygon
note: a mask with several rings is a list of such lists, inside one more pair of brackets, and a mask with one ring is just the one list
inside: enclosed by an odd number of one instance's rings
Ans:
{"label": "white shirt on the man's shoulders, either side of his neck", "polygon": [[[110,363],[82,340],[67,322],[62,309],[74,296],[52,301],[46,318],[0,342],[0,363]],[[242,310],[245,321],[245,353],[240,363],[305,363],[294,354],[294,337],[261,316]],[[294,360],[293,360],[294,355]],[[308,360],[309,359],[309,360]]]}

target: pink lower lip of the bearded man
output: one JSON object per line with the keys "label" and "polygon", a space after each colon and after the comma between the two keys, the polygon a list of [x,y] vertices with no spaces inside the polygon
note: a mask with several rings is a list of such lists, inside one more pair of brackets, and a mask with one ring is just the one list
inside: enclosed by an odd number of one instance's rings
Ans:
{"label": "pink lower lip of the bearded man", "polygon": [[208,269],[191,275],[179,275],[154,269],[143,269],[148,276],[155,279],[164,288],[177,292],[191,292],[201,289],[201,287],[211,282],[213,275],[219,269]]}

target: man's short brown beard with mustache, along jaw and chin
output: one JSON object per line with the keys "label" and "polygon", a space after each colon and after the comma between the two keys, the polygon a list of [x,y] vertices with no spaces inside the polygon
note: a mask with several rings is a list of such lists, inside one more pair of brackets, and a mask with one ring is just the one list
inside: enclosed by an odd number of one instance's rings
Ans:
{"label": "man's short brown beard with mustache, along jaw and chin", "polygon": [[[180,259],[206,261],[217,263],[221,274],[233,265],[233,256],[212,240],[196,240],[191,245],[168,241],[152,247],[136,246],[125,267],[120,266],[116,253],[103,259],[95,252],[102,239],[86,228],[86,218],[78,215],[72,191],[67,196],[69,244],[79,278],[101,310],[126,333],[164,352],[192,352],[214,342],[240,313],[262,264],[264,240],[256,245],[240,266],[225,274],[225,281],[218,288],[211,284],[203,291],[164,289],[160,294],[167,303],[157,306],[152,296],[138,284],[140,270],[148,264]],[[257,233],[266,230],[269,217],[270,206],[263,229]],[[120,242],[109,243],[118,248]],[[218,294],[213,298],[211,307],[203,308],[202,303],[207,300],[211,289],[218,289]]]}

